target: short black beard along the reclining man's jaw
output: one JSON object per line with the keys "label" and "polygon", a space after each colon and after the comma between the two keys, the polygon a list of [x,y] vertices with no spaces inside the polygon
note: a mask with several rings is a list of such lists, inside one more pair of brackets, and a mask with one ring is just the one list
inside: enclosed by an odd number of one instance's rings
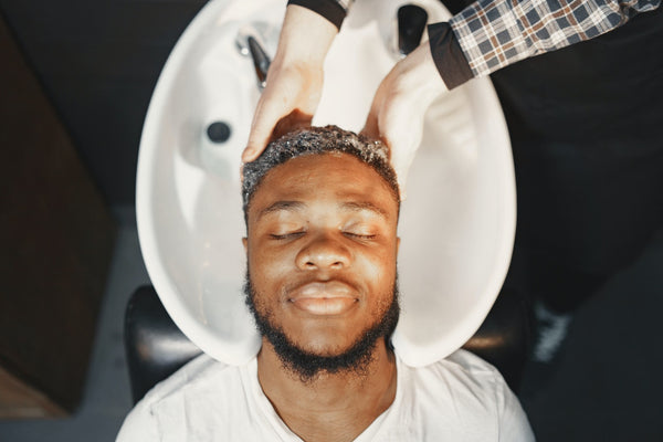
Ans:
{"label": "short black beard along the reclining man's jaw", "polygon": [[246,271],[244,281],[244,295],[257,330],[272,344],[283,367],[298,376],[302,382],[311,382],[322,372],[354,372],[367,376],[378,339],[383,338],[387,347],[392,348],[390,338],[400,315],[398,277],[393,282],[389,307],[381,312],[379,318],[369,325],[348,349],[332,356],[318,355],[297,346],[288,338],[283,328],[273,323],[270,312],[259,312],[249,271]]}

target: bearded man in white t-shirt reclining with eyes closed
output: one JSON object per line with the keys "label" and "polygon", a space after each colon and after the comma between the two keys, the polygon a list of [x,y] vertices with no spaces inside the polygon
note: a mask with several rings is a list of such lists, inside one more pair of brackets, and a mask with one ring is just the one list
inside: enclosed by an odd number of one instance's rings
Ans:
{"label": "bearded man in white t-shirt reclining with eyes closed", "polygon": [[118,441],[532,441],[497,370],[459,350],[400,361],[399,188],[383,145],[307,128],[245,165],[246,303],[263,336],[232,367],[201,356]]}

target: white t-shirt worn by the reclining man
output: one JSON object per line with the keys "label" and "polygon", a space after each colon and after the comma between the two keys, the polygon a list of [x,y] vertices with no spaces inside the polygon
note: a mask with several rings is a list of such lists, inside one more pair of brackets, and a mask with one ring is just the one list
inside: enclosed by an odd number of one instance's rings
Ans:
{"label": "white t-shirt worn by the reclining man", "polygon": [[[397,355],[391,407],[355,442],[534,441],[520,403],[499,372],[459,350],[423,368]],[[257,362],[228,366],[202,355],[157,385],[126,418],[117,442],[301,442],[257,381]]]}

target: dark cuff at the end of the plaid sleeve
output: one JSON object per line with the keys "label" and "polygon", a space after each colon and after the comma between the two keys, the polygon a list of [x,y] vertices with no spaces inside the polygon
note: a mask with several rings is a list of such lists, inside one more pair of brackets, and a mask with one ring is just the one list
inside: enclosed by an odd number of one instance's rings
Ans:
{"label": "dark cuff at the end of the plaid sleeve", "polygon": [[431,54],[449,90],[474,77],[470,63],[448,22],[429,24]]}

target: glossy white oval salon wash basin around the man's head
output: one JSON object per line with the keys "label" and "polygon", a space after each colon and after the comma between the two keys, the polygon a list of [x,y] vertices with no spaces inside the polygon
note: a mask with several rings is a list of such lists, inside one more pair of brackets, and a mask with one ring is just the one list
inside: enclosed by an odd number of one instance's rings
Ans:
{"label": "glossy white oval salon wash basin around the man's head", "polygon": [[[315,125],[361,128],[380,80],[396,62],[389,45],[402,3],[354,6],[326,61]],[[449,17],[438,1],[419,3],[431,21]],[[164,67],[140,141],[136,211],[152,284],[180,329],[233,365],[260,348],[242,293],[240,198],[240,157],[260,92],[252,61],[240,54],[235,39],[246,27],[260,29],[273,54],[284,12],[281,0],[210,1]],[[208,139],[213,122],[230,127],[225,143]],[[431,106],[408,177],[399,227],[402,315],[393,344],[406,364],[422,366],[475,333],[511,259],[514,171],[487,78]]]}

